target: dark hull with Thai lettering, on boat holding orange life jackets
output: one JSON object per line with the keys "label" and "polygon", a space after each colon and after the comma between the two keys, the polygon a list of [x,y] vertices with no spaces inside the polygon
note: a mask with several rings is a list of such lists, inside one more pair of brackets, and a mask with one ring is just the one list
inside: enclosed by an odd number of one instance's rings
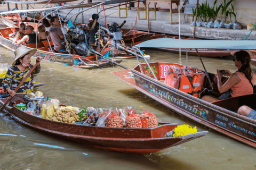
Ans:
{"label": "dark hull with Thai lettering, on boat holding orange life jackets", "polygon": [[[162,74],[161,71],[158,72],[161,65],[170,65],[170,63],[150,63],[150,66],[156,68],[158,78]],[[145,67],[147,66],[142,64],[141,68],[147,74]],[[139,72],[139,66],[132,70],[112,72],[112,74],[173,111],[247,145],[256,147],[256,121],[167,86],[163,83],[164,79],[161,82]],[[253,104],[252,101],[255,97],[256,94],[241,99],[233,98],[226,106],[233,103],[232,107],[236,109],[235,107],[245,105],[246,102],[250,103],[251,101]]]}

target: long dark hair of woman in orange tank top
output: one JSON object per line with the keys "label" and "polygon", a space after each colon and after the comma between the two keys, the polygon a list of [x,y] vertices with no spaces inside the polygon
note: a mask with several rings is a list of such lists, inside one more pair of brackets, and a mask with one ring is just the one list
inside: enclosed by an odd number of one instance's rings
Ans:
{"label": "long dark hair of woman in orange tank top", "polygon": [[245,74],[245,77],[251,82],[252,80],[252,69],[250,66],[251,57],[250,54],[245,52],[244,50],[241,50],[239,52],[236,52],[234,54],[234,57],[237,61],[240,61],[242,63],[242,67],[238,70],[239,72],[242,72]]}

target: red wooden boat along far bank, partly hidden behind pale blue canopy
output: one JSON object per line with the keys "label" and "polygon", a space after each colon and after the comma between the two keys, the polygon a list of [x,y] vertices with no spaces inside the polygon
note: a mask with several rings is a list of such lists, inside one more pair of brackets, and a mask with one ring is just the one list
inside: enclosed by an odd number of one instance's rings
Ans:
{"label": "red wooden boat along far bank, partly hidden behind pale blue canopy", "polygon": [[[123,31],[123,39],[125,45],[131,47],[132,43],[132,35],[134,30],[129,29],[120,29]],[[144,33],[144,34],[143,34]],[[148,37],[147,37],[148,35]],[[141,43],[142,41],[147,41],[151,39],[157,39],[157,38],[172,38],[172,39],[179,39],[179,36],[168,36],[168,35],[159,35],[158,33],[151,33],[149,35],[148,32],[144,31],[136,31],[135,32],[135,39],[134,39],[134,45],[137,45]],[[180,37],[181,39],[193,39],[193,38],[186,38],[186,37]],[[199,39],[197,39],[199,40]],[[151,48],[155,50],[161,50],[163,52],[171,52],[171,53],[180,53],[179,48]],[[198,52],[200,53],[201,56],[203,57],[226,57],[230,56],[232,52],[235,52],[234,49],[202,49],[198,48]],[[181,48],[181,54],[182,55],[193,55],[197,56],[196,50],[194,48]]]}

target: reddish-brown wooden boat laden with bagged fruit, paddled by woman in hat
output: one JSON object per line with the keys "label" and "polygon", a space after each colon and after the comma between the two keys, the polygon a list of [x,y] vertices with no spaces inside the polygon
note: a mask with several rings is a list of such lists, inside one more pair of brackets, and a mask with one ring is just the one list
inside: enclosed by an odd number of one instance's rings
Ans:
{"label": "reddish-brown wooden boat laden with bagged fruit, paddled by woman in hat", "polygon": [[[0,103],[4,104],[3,101]],[[108,128],[55,122],[27,114],[16,107],[6,107],[14,120],[54,137],[78,142],[88,147],[132,155],[150,154],[207,134],[207,131],[203,131],[181,137],[164,138],[164,135],[172,131],[177,124],[159,123],[161,125],[151,129]]]}

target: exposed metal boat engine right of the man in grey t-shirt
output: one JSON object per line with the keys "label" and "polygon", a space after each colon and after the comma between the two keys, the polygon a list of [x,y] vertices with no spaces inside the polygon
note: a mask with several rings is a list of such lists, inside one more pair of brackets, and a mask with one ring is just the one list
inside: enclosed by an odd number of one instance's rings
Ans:
{"label": "exposed metal boat engine right of the man in grey t-shirt", "polygon": [[[71,28],[67,31],[66,38],[77,55],[86,56],[90,55],[91,51],[85,41],[85,33],[87,32],[84,32],[82,29],[81,25],[77,25],[76,28]],[[87,39],[87,41],[88,40],[89,39]]]}

